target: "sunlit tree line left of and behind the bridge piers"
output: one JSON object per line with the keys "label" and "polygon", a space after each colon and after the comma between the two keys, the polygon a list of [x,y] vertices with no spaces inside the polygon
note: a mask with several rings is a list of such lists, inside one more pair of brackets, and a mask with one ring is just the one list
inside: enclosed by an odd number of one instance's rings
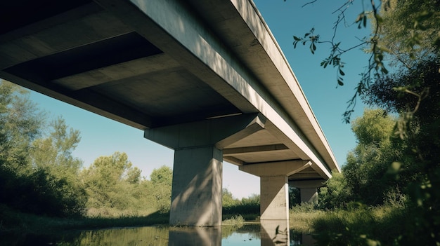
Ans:
{"label": "sunlit tree line left of and behind the bridge piers", "polygon": [[[51,217],[121,217],[167,213],[172,169],[141,176],[126,153],[83,167],[72,155],[81,140],[63,118],[47,114],[29,92],[0,81],[0,207]],[[259,196],[241,200],[223,190],[224,212],[259,214]]]}

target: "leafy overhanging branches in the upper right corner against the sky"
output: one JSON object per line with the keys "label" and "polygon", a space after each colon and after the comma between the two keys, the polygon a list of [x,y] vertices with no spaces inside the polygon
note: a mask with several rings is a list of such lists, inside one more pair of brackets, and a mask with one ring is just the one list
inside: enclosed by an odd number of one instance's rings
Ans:
{"label": "leafy overhanging branches in the upper right corner against the sky", "polygon": [[[316,2],[309,1],[304,6]],[[309,44],[311,53],[315,53],[319,44],[330,45],[330,54],[321,62],[321,67],[335,67],[337,69],[337,85],[344,86],[344,54],[355,48],[362,48],[369,54],[368,65],[361,72],[361,79],[356,86],[354,96],[349,100],[344,112],[344,121],[349,123],[351,114],[354,112],[358,96],[362,96],[370,90],[377,76],[388,74],[385,57],[394,57],[408,67],[410,59],[417,57],[432,57],[439,55],[440,50],[440,4],[434,0],[382,0],[370,1],[362,6],[356,20],[346,20],[347,11],[353,1],[345,1],[342,6],[335,7],[333,13],[337,14],[333,25],[334,33],[330,40],[322,40],[319,34],[315,34],[312,28],[304,36],[294,36],[293,45],[297,48],[298,43]],[[303,6],[303,7],[304,7]],[[342,23],[352,22],[359,29],[366,28],[368,18],[372,23],[370,36],[359,39],[359,43],[349,48],[342,48],[342,41],[338,40],[337,31]],[[351,25],[349,25],[351,26]],[[429,37],[429,38],[427,38]],[[409,60],[406,58],[408,57]],[[416,62],[417,63],[417,62]]]}

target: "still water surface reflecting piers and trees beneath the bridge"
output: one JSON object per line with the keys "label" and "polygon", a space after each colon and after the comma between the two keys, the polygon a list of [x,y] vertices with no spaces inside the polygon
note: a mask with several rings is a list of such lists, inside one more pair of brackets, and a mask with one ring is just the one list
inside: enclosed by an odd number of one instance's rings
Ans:
{"label": "still water surface reflecting piers and trees beneath the bridge", "polygon": [[[109,228],[96,231],[72,231],[63,235],[51,235],[44,238],[28,237],[8,243],[0,240],[0,245],[313,245],[311,235],[302,235],[289,231],[284,221],[280,223],[263,222],[246,224],[240,228],[221,227],[171,227],[147,226],[137,228]],[[289,242],[289,243],[287,243]]]}

